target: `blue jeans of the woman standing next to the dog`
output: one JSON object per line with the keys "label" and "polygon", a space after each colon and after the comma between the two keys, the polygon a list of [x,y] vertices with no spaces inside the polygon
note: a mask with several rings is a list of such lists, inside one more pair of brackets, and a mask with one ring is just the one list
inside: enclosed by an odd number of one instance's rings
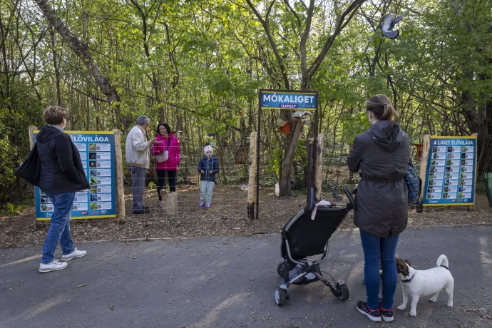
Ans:
{"label": "blue jeans of the woman standing next to the dog", "polygon": [[366,280],[367,306],[379,309],[379,262],[383,267],[383,297],[381,307],[393,308],[393,297],[398,285],[398,273],[394,260],[398,237],[380,238],[360,230],[362,249],[364,250],[364,279]]}

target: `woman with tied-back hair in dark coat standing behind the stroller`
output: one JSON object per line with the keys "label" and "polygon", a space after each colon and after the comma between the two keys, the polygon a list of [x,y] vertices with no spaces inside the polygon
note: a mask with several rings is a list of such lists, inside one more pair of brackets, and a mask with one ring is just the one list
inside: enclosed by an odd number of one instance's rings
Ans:
{"label": "woman with tied-back hair in dark coat standing behind the stroller", "polygon": [[[357,135],[347,158],[352,172],[359,171],[354,224],[359,227],[364,250],[367,302],[357,309],[374,322],[393,318],[393,298],[398,283],[395,252],[408,220],[408,190],[404,177],[409,163],[409,137],[401,130],[398,113],[388,97],[367,100],[371,128]],[[393,118],[394,121],[391,121]],[[379,302],[379,262],[383,268]]]}

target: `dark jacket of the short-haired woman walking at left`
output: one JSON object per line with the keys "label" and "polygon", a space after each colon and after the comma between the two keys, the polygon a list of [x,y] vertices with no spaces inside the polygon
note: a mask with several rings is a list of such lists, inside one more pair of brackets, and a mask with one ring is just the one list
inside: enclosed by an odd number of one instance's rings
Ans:
{"label": "dark jacket of the short-haired woman walking at left", "polygon": [[52,125],[36,135],[41,161],[39,188],[47,194],[73,193],[89,188],[81,156],[71,138]]}

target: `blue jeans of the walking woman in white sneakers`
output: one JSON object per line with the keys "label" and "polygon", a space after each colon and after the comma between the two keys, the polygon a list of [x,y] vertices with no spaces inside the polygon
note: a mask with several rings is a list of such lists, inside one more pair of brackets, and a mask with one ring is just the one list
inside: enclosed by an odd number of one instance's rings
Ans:
{"label": "blue jeans of the walking woman in white sneakers", "polygon": [[72,235],[70,234],[70,214],[75,193],[46,194],[53,203],[54,212],[51,215],[51,225],[44,240],[41,263],[50,263],[55,257],[58,241],[63,255],[73,252]]}

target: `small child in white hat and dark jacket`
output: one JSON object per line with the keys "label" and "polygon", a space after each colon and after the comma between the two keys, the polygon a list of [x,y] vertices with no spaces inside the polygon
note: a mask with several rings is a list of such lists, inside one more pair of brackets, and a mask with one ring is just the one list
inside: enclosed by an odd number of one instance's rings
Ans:
{"label": "small child in white hat and dark jacket", "polygon": [[219,172],[219,162],[215,155],[213,155],[210,145],[206,145],[203,148],[203,153],[205,153],[205,156],[200,160],[197,167],[198,172],[201,174],[200,180],[202,180],[202,185],[200,186],[200,204],[198,207],[203,207],[203,204],[205,204],[205,208],[209,208],[215,185],[215,174]]}

